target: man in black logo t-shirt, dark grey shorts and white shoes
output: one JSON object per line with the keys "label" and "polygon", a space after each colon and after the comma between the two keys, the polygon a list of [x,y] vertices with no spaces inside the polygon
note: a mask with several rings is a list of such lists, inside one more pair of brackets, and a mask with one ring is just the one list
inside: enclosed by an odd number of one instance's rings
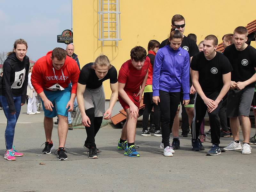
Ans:
{"label": "man in black logo t-shirt, dark grey shorts and white shoes", "polygon": [[[247,35],[248,30],[245,27],[237,27],[234,30],[234,44],[229,45],[223,53],[234,69],[227,103],[227,116],[230,118],[233,141],[224,150],[242,149],[242,154],[251,154],[249,113],[256,81],[256,49],[245,43],[248,39]],[[239,119],[244,136],[243,147],[239,141]]]}

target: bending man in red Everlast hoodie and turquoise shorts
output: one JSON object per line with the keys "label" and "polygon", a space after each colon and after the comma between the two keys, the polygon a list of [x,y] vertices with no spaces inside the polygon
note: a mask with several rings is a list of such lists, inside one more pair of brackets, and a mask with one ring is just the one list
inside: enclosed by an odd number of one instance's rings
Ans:
{"label": "bending man in red Everlast hoodie and turquoise shorts", "polygon": [[[66,160],[64,146],[68,133],[68,111],[73,110],[76,86],[79,77],[76,61],[67,57],[67,52],[57,47],[36,61],[31,83],[40,95],[44,109],[45,148],[43,154],[50,154],[52,143],[53,117],[58,115],[59,149],[58,159]],[[72,87],[70,82],[72,82]]]}

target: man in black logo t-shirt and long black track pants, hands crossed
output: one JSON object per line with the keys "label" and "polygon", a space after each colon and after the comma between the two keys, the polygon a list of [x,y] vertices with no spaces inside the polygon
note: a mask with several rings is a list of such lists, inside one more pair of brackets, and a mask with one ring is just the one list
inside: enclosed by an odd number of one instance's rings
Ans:
{"label": "man in black logo t-shirt and long black track pants, hands crossed", "polygon": [[220,154],[220,120],[218,117],[221,100],[230,87],[231,71],[228,59],[216,52],[218,39],[214,35],[204,38],[204,52],[196,54],[191,61],[192,83],[196,89],[195,116],[192,127],[192,150],[204,150],[198,139],[199,128],[206,110],[210,118],[212,148],[206,155]]}

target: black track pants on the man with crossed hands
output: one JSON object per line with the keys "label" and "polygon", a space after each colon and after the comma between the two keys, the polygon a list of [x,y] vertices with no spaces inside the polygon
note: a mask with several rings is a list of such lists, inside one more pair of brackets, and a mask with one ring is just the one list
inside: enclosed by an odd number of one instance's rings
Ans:
{"label": "black track pants on the man with crossed hands", "polygon": [[[213,92],[210,94],[205,94],[205,96],[208,97],[209,99],[216,100],[219,94],[220,92]],[[220,119],[218,114],[221,107],[221,102],[222,101],[220,101],[216,109],[214,109],[211,113],[208,113],[209,119],[210,119],[212,144],[215,144],[215,145],[220,144]],[[191,124],[191,127],[192,127],[191,134],[192,134],[192,139],[196,140],[198,139],[198,136],[199,136],[200,125],[202,124],[205,113],[207,111],[207,106],[204,104],[204,101],[197,93],[195,98],[194,110],[195,110],[195,116]]]}

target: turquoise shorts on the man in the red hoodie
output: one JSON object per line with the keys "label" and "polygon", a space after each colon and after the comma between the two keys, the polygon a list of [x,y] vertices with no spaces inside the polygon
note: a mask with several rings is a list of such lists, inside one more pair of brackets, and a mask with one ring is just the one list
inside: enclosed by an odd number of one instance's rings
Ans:
{"label": "turquoise shorts on the man in the red hoodie", "polygon": [[62,91],[46,91],[44,90],[44,94],[47,99],[50,100],[53,104],[52,111],[45,109],[44,102],[42,100],[42,106],[44,109],[44,116],[46,117],[56,117],[58,115],[68,116],[68,108],[66,108],[68,101],[70,100],[71,95],[71,84],[68,85]]}

